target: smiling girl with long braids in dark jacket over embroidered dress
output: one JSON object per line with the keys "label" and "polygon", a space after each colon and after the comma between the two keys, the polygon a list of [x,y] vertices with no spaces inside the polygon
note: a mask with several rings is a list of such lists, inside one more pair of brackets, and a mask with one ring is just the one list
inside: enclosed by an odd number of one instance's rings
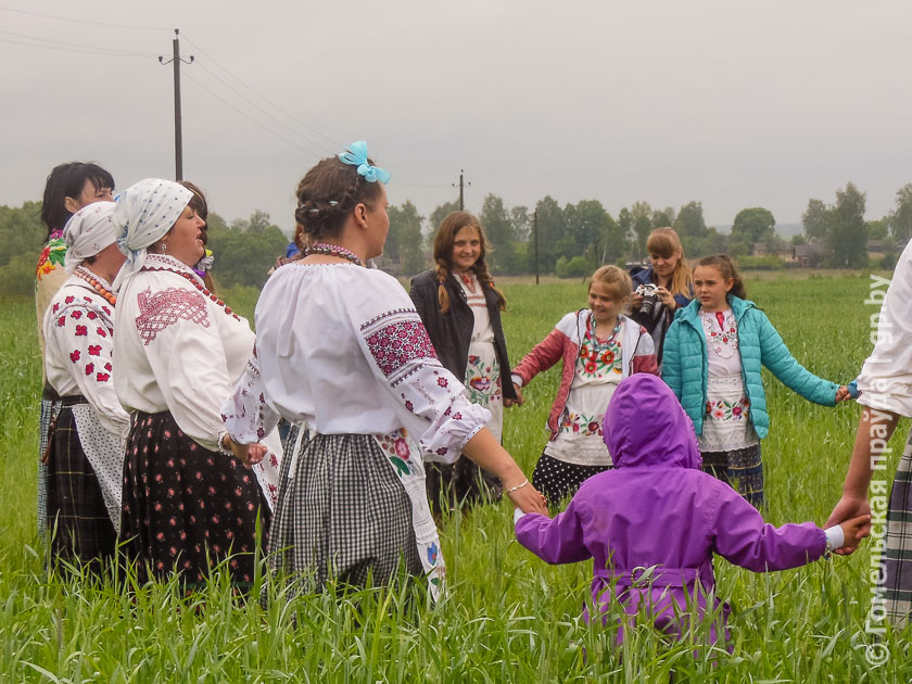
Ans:
{"label": "smiling girl with long braids in dark jacket over embroidered dress", "polygon": [[[409,292],[440,363],[465,378],[469,400],[491,411],[487,429],[501,441],[504,406],[516,398],[501,325],[504,295],[494,287],[484,230],[468,212],[453,212],[434,237],[436,268],[411,280]],[[429,464],[428,497],[439,509],[454,509],[501,497],[501,481],[460,456],[452,466]]]}

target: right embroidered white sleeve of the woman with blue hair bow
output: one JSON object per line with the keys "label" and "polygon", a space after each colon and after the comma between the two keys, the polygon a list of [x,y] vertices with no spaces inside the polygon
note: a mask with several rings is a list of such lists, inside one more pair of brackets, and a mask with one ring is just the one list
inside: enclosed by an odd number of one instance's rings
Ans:
{"label": "right embroidered white sleeve of the woman with blue hair bow", "polygon": [[395,279],[382,276],[365,296],[350,302],[358,344],[425,455],[453,463],[491,413],[469,402],[463,383],[438,360],[408,294]]}

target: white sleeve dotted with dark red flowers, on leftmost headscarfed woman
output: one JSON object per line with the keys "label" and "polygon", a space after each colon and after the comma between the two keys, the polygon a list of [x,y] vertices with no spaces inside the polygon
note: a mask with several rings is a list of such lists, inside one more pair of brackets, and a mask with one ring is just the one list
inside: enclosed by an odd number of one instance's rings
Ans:
{"label": "white sleeve dotted with dark red flowers, on leftmost headscarfed woman", "polygon": [[74,303],[48,319],[48,349],[69,355],[72,377],[98,414],[102,427],[126,438],[130,417],[121,406],[111,380],[113,327],[88,304]]}

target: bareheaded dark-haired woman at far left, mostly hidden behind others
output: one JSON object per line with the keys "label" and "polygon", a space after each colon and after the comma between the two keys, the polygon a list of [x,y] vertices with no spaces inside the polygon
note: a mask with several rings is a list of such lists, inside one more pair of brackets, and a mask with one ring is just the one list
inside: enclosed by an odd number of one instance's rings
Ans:
{"label": "bareheaded dark-haired woman at far left, mostly hidden behind others", "polygon": [[[66,280],[63,269],[66,243],[63,227],[73,214],[87,204],[113,199],[114,178],[97,164],[69,162],[60,164],[48,176],[41,203],[41,223],[48,229],[48,242],[38,258],[35,281],[35,308],[38,314],[38,346],[45,354],[45,312],[56,291]],[[48,449],[48,427],[60,410],[60,397],[45,377],[41,394],[41,415],[38,423],[38,533],[45,534],[48,509],[47,474],[43,463]]]}

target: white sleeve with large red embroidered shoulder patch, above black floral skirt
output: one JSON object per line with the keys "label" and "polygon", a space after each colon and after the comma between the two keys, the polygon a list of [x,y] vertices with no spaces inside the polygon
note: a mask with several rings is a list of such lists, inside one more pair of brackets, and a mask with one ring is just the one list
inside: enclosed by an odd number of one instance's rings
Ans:
{"label": "white sleeve with large red embroidered shoulder patch, above black floral skirt", "polygon": [[154,309],[143,311],[140,303],[138,329],[148,325],[147,313],[164,321],[154,337],[147,335],[145,353],[168,410],[188,436],[218,451],[226,432],[218,409],[231,385],[218,325],[205,297],[195,289],[169,287],[156,293]]}

